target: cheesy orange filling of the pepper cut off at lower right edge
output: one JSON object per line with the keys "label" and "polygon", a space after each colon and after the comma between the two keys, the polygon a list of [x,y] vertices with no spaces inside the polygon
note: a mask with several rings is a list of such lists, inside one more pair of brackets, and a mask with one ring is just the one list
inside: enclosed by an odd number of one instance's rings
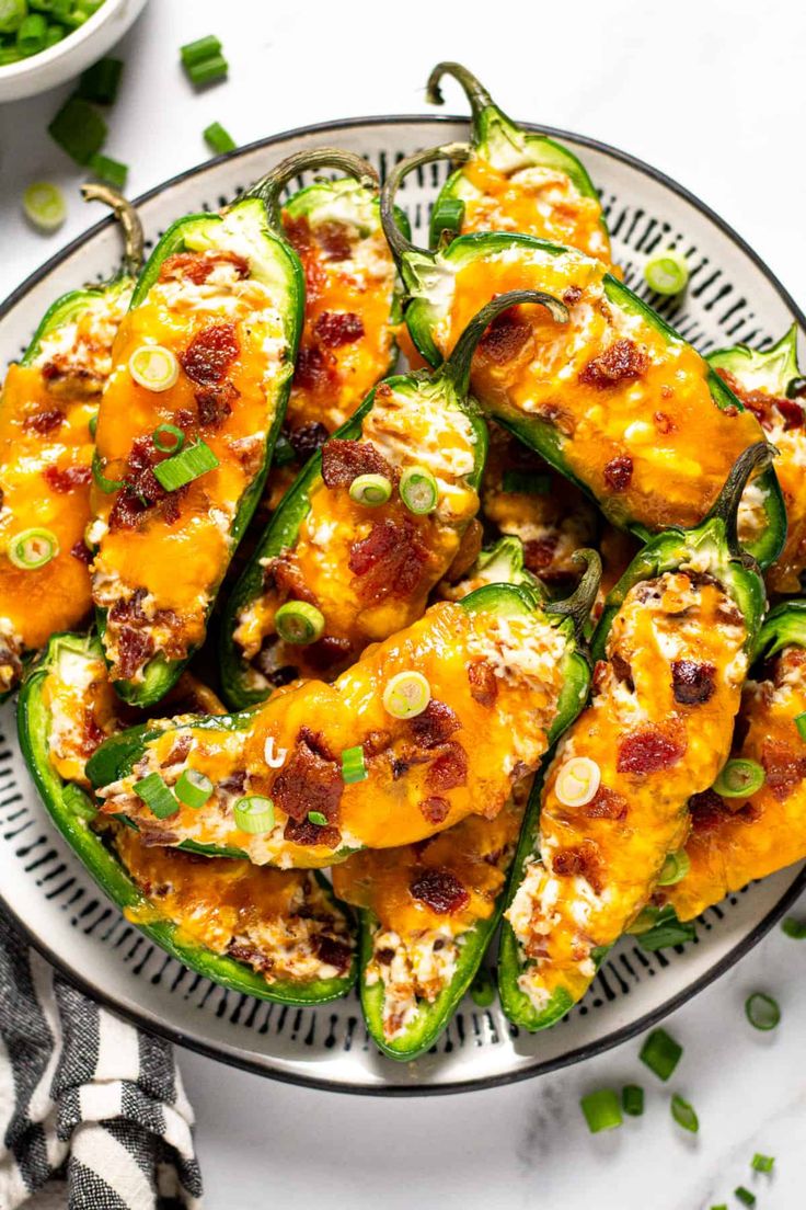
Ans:
{"label": "cheesy orange filling of the pepper cut off at lower right edge", "polygon": [[767,680],[744,686],[737,726],[737,736],[747,734],[735,755],[761,765],[764,785],[747,799],[723,799],[712,790],[691,803],[685,846],[691,868],[657,893],[680,920],[806,857],[806,759],[795,726],[804,711],[806,652],[785,647]]}

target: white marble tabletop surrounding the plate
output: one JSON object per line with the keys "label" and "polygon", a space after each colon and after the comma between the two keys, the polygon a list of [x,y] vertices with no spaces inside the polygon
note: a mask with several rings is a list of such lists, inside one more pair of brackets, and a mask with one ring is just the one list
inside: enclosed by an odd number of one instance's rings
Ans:
{"label": "white marble tabletop surrounding the plate", "polygon": [[[457,58],[515,116],[614,143],[691,188],[804,301],[802,5],[779,0],[767,16],[747,0],[576,0],[551,15],[532,0],[477,18],[474,8],[151,0],[123,44],[109,154],[132,165],[135,195],[203,160],[210,121],[245,143],[330,117],[424,111],[429,68]],[[231,80],[193,96],[176,47],[210,31],[226,44]],[[65,93],[0,106],[0,295],[95,218],[45,133]],[[448,109],[464,111],[452,88]],[[68,225],[50,240],[19,213],[23,185],[41,177],[71,189]],[[540,1081],[401,1101],[284,1087],[182,1053],[208,1205],[707,1210],[738,1206],[743,1183],[759,1210],[796,1210],[806,1204],[805,973],[806,943],[776,930],[677,1013],[668,1028],[685,1055],[671,1088],[638,1062],[638,1042]],[[744,1020],[754,990],[782,1004],[771,1035]],[[580,1095],[627,1081],[645,1085],[645,1116],[591,1137]],[[696,1139],[671,1120],[671,1090],[696,1106]],[[755,1151],[776,1156],[772,1177],[750,1172]]]}

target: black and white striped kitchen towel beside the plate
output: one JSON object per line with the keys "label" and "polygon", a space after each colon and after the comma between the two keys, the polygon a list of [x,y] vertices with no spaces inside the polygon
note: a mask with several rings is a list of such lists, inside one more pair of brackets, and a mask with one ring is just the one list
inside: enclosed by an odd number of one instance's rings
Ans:
{"label": "black and white striped kitchen towel beside the plate", "polygon": [[170,1045],[76,991],[0,912],[0,1210],[54,1180],[48,1206],[197,1208],[192,1124]]}

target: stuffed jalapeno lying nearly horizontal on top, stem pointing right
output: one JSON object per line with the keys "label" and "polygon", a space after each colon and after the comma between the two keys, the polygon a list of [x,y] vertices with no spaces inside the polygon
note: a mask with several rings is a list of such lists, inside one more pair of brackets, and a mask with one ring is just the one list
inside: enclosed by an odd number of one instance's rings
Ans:
{"label": "stuffed jalapeno lying nearly horizontal on top, stem pointing right", "polygon": [[[566,601],[491,584],[434,605],[332,685],[297,682],[260,710],[112,737],[87,766],[104,811],[155,843],[282,866],[494,818],[587,695],[579,635],[598,557],[584,557]],[[197,808],[175,793],[185,773],[204,779]]]}

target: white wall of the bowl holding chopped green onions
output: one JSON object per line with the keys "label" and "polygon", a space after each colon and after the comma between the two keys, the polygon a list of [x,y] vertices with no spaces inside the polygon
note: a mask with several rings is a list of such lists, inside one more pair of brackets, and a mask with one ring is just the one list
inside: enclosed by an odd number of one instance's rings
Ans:
{"label": "white wall of the bowl holding chopped green onions", "polygon": [[56,46],[0,67],[0,102],[56,88],[103,58],[134,22],[146,0],[105,0],[83,25]]}

